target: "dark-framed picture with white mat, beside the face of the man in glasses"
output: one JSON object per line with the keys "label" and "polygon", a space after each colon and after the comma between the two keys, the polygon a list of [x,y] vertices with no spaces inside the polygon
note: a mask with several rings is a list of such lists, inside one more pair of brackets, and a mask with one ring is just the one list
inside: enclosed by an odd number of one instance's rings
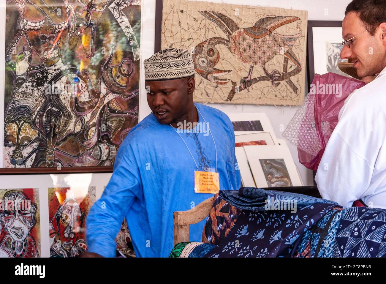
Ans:
{"label": "dark-framed picture with white mat, beside the face of the man in glasses", "polygon": [[340,58],[342,41],[342,21],[308,21],[308,86],[315,74],[333,72],[348,76],[338,68],[339,62],[347,61]]}

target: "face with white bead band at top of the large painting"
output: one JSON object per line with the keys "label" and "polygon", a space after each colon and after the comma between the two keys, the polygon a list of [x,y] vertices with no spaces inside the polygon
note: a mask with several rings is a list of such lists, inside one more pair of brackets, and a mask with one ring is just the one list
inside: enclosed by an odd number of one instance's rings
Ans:
{"label": "face with white bead band at top of the large painting", "polygon": [[25,2],[24,25],[41,61],[49,66],[58,62],[66,47],[69,29],[69,15],[63,0]]}

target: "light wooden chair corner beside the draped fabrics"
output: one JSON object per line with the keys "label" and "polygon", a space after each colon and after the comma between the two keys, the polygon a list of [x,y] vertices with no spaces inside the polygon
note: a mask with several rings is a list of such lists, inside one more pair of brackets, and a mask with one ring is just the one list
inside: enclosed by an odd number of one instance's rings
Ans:
{"label": "light wooden chair corner beside the draped fabrics", "polygon": [[196,224],[209,215],[214,199],[209,197],[190,210],[173,212],[174,245],[189,241],[189,225]]}

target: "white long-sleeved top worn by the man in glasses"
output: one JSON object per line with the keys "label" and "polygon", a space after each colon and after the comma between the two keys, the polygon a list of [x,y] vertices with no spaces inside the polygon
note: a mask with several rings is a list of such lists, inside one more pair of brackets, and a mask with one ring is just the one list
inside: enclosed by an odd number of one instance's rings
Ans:
{"label": "white long-sleeved top worn by the man in glasses", "polygon": [[322,197],[344,207],[386,209],[385,74],[347,97],[315,176]]}

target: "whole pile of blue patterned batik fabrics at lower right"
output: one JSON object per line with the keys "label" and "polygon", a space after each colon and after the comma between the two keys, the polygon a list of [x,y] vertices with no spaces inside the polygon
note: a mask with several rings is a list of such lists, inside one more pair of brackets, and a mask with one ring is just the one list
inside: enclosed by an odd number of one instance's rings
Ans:
{"label": "whole pile of blue patterned batik fabrics at lower right", "polygon": [[[205,247],[205,257],[386,257],[385,209],[252,187],[219,195],[241,211],[227,236]],[[296,201],[296,212],[270,210],[267,201]]]}

